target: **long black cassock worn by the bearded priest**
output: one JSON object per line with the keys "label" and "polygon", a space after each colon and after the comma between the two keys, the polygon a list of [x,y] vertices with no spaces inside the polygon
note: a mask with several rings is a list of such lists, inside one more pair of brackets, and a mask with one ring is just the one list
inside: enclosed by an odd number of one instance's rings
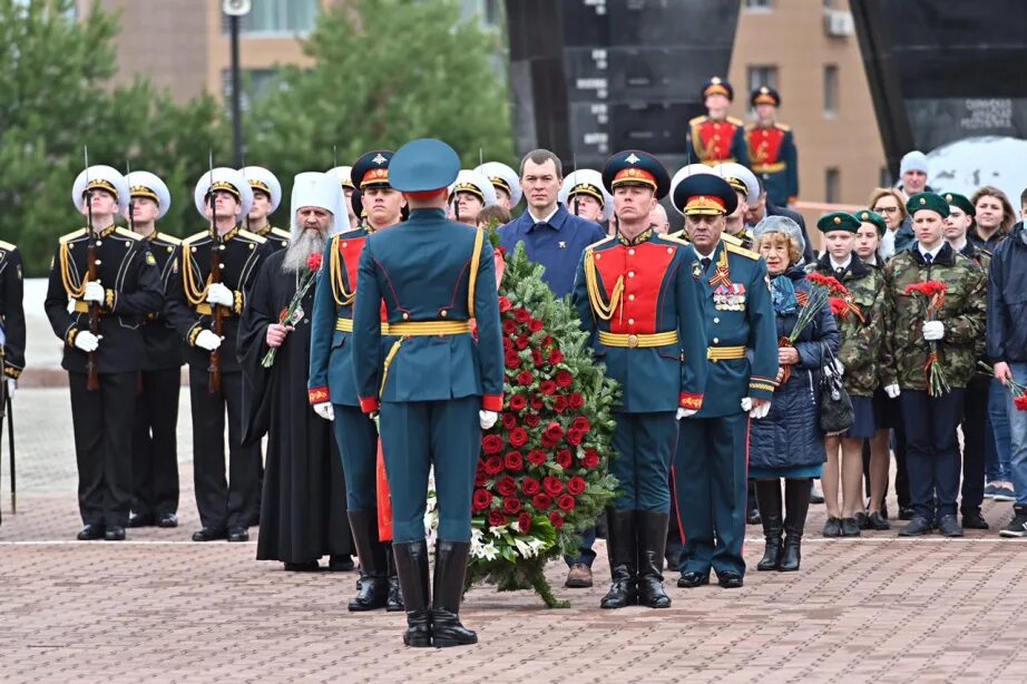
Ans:
{"label": "long black cassock worn by the bearded priest", "polygon": [[297,275],[282,272],[284,257],[283,250],[267,258],[239,324],[238,356],[246,375],[243,439],[251,443],[267,434],[257,559],[306,563],[355,551],[332,423],[314,413],[307,401],[313,286],[274,365],[261,365],[270,350],[267,326],[278,322],[297,291]]}

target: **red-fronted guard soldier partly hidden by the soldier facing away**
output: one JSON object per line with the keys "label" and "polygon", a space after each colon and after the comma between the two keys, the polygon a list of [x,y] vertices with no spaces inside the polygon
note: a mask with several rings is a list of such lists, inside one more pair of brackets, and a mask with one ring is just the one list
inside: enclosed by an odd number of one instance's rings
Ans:
{"label": "red-fronted guard soldier partly hidden by the soldier facing away", "polygon": [[[389,153],[391,159],[392,154]],[[365,155],[365,159],[371,157]],[[359,165],[361,163],[358,163]],[[378,174],[378,164],[366,166],[364,175],[389,180]],[[391,189],[391,186],[390,186]],[[394,192],[394,190],[393,190]],[[399,223],[399,216],[395,216]],[[385,229],[383,226],[379,229]],[[356,267],[360,255],[374,232],[370,225],[334,235],[325,247],[317,276],[314,311],[311,317],[311,363],[307,395],[314,411],[332,420],[335,441],[342,455],[346,483],[346,515],[361,577],[356,596],[349,604],[353,612],[388,608],[402,610],[399,580],[392,551],[378,535],[376,459],[378,431],[374,421],[360,409],[353,372],[353,305],[356,301]],[[389,324],[382,322],[382,334]],[[387,346],[390,345],[385,338]],[[387,582],[388,577],[388,582]]]}

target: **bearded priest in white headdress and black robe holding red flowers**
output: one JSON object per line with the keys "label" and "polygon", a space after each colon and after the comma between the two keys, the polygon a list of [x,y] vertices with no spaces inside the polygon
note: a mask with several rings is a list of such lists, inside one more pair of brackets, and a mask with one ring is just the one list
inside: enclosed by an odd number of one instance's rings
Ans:
{"label": "bearded priest in white headdress and black robe holding red flowers", "polygon": [[353,569],[342,459],[331,423],[306,401],[313,283],[336,215],[345,222],[335,177],[299,174],[290,245],[268,257],[239,325],[239,363],[253,388],[244,440],[267,433],[257,559],[288,571],[316,571],[322,556],[330,570]]}

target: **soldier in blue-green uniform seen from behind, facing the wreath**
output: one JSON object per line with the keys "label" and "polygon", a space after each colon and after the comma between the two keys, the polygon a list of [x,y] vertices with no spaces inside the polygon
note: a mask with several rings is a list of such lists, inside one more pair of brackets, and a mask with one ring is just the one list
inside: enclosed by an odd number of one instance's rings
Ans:
{"label": "soldier in blue-green uniform seen from behind, facing the wreath", "polygon": [[[353,369],[361,409],[381,411],[392,491],[393,543],[407,603],[409,646],[475,644],[460,624],[470,554],[471,491],[481,430],[502,409],[503,361],[492,247],[485,232],[447,221],[447,187],[460,169],[446,143],[419,139],[392,159],[389,177],[410,218],[368,238],[353,316]],[[381,305],[389,332],[382,348]],[[478,322],[478,340],[470,319]],[[429,612],[424,506],[434,467],[439,535]]]}

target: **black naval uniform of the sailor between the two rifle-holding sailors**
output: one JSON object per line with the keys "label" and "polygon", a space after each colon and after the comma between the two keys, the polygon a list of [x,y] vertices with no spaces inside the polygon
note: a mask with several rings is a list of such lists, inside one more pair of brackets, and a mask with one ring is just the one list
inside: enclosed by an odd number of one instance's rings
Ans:
{"label": "black naval uniform of the sailor between the two rifle-holding sailors", "polygon": [[[165,295],[178,271],[182,241],[154,232],[144,237],[160,272]],[[178,391],[182,385],[182,338],[165,313],[143,322],[146,353],[133,427],[133,519],[153,525],[178,512]]]}

